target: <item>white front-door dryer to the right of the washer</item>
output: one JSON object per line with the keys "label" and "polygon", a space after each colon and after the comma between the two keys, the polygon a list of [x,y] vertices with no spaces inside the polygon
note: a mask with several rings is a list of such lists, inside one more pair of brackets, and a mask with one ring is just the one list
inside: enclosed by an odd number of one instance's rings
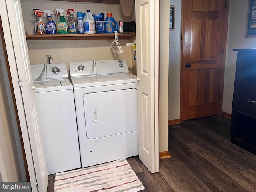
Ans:
{"label": "white front-door dryer to the right of the washer", "polygon": [[137,77],[125,60],[70,62],[82,167],[138,155]]}

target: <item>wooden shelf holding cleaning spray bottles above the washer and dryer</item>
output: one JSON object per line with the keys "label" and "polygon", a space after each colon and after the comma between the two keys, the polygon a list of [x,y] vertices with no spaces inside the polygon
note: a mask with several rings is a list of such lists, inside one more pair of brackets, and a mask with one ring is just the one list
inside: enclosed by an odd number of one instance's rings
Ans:
{"label": "wooden shelf holding cleaning spray bottles above the washer and dryer", "polygon": [[[61,34],[61,35],[26,35],[27,40],[114,40],[114,33],[103,34]],[[135,39],[136,33],[118,33],[118,39]]]}

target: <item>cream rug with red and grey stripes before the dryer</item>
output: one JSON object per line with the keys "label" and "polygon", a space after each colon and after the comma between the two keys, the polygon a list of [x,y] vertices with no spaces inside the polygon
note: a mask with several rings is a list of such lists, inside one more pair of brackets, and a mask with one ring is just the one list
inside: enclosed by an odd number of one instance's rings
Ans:
{"label": "cream rug with red and grey stripes before the dryer", "polygon": [[137,192],[145,189],[126,159],[57,173],[54,192]]}

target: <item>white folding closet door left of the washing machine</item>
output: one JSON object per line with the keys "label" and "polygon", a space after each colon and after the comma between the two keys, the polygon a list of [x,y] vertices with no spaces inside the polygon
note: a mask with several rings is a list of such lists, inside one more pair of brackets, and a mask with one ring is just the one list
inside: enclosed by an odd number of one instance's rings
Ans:
{"label": "white folding closet door left of the washing machine", "polygon": [[[36,111],[28,48],[19,0],[0,0],[0,16],[32,192],[45,192],[48,174]],[[18,82],[20,82],[20,87]]]}

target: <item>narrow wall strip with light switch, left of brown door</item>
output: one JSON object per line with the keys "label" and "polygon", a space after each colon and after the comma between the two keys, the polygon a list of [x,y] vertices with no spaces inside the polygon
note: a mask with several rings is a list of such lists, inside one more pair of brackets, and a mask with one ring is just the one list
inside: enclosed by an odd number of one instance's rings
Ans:
{"label": "narrow wall strip with light switch, left of brown door", "polygon": [[169,33],[169,45],[175,43],[176,50],[170,51],[169,47],[168,120],[180,118],[181,3],[181,0],[170,0],[170,5],[175,6],[175,26]]}

